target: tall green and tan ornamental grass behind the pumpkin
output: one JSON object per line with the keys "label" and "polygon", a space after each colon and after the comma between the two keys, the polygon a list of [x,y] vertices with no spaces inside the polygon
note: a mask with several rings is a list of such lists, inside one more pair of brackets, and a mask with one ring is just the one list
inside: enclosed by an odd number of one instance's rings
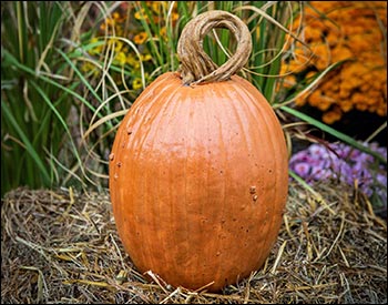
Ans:
{"label": "tall green and tan ornamental grass behind the pumpkin", "polygon": [[[303,9],[293,1],[129,1],[1,3],[1,193],[18,185],[108,185],[108,155],[123,115],[157,75],[178,69],[184,26],[207,10],[235,13],[248,26],[253,51],[241,71],[284,123],[314,126],[376,155],[292,105],[341,62],[284,85],[293,55],[290,29]],[[300,42],[300,41],[299,41]],[[303,43],[303,42],[302,42]],[[203,41],[218,65],[237,48],[227,30]],[[292,116],[292,122],[287,118]],[[292,141],[289,140],[289,144]]]}

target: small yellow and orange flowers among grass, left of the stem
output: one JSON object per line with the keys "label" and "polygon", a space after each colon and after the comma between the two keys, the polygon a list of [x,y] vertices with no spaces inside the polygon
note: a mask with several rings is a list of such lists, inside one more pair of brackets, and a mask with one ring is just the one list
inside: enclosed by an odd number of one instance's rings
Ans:
{"label": "small yellow and orange flowers among grass, left of the stem", "polygon": [[[154,67],[157,67],[156,59],[150,50],[150,41],[166,40],[166,20],[164,14],[169,9],[167,1],[144,1],[122,2],[120,7],[100,24],[99,31],[91,38],[90,44],[95,44],[88,53],[92,57],[104,54],[106,50],[113,52],[112,64],[129,71],[125,79],[121,72],[112,72],[118,84],[125,81],[125,88],[131,90],[133,96],[136,96],[140,90],[143,89],[142,77],[145,79],[145,84],[152,81],[150,75]],[[163,11],[163,12],[162,12]],[[178,19],[176,4],[172,7],[171,22],[174,26]],[[142,21],[157,24],[159,32],[155,37],[150,37],[144,30]],[[132,45],[125,43],[133,42]],[[103,41],[103,43],[99,43]],[[141,62],[145,71],[141,69]],[[93,69],[93,65],[85,62],[82,67],[84,72]]]}

